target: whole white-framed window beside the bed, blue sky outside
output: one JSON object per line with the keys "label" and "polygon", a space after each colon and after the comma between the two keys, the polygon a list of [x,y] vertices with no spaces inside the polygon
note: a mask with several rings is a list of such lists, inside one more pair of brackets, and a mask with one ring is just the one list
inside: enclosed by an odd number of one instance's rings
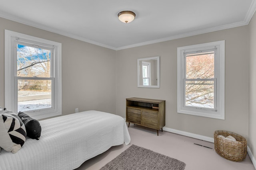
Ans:
{"label": "whole white-framed window beside the bed, blue sky outside", "polygon": [[5,107],[34,119],[61,115],[61,43],[5,30]]}

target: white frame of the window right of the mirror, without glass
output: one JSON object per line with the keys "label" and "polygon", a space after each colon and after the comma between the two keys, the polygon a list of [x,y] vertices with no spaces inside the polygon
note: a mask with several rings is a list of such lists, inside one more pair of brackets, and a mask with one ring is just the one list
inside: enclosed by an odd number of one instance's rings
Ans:
{"label": "white frame of the window right of the mirror, without glass", "polygon": [[[193,51],[215,49],[214,55],[214,109],[186,106],[186,55]],[[215,93],[216,92],[216,93]],[[177,112],[215,119],[225,119],[225,41],[216,41],[177,48]]]}

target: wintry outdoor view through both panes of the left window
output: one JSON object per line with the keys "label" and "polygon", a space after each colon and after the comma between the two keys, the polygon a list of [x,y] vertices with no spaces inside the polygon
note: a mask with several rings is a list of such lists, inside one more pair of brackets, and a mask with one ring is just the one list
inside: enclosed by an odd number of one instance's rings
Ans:
{"label": "wintry outdoor view through both panes of the left window", "polygon": [[52,82],[40,79],[51,77],[50,60],[50,50],[17,45],[18,111],[51,107]]}

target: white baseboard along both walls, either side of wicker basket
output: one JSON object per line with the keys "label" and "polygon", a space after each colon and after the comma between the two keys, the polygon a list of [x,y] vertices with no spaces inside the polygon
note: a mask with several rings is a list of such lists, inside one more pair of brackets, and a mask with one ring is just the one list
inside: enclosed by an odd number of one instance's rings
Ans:
{"label": "white baseboard along both walls, either side of wicker basket", "polygon": [[[189,132],[185,132],[185,131],[171,129],[171,128],[168,128],[168,127],[163,127],[163,130],[167,131],[167,132],[176,133],[176,134],[179,134],[179,135],[192,137],[192,138],[195,138],[195,139],[200,139],[200,140],[204,140],[204,141],[214,143],[214,138],[212,138],[212,137],[206,137],[206,136],[203,136],[203,135],[198,135],[198,134],[195,134],[195,133],[189,133]],[[254,158],[254,156],[253,156],[253,154],[252,154],[252,152],[251,152],[251,150],[248,146],[247,146],[247,153],[248,153],[250,159],[252,160],[252,164],[254,165],[254,168],[256,169],[256,159]]]}

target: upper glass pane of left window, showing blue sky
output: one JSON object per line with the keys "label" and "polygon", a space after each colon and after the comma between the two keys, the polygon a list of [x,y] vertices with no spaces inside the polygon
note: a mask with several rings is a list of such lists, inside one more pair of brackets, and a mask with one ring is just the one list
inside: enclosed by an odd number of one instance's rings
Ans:
{"label": "upper glass pane of left window, showing blue sky", "polygon": [[50,77],[51,51],[17,44],[17,76]]}

